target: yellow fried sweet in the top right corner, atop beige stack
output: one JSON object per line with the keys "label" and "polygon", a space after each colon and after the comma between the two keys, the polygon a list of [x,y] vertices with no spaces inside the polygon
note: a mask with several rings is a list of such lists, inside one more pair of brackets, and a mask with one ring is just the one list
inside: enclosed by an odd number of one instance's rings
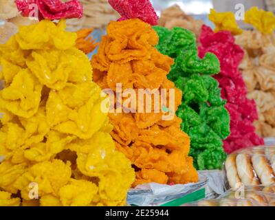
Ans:
{"label": "yellow fried sweet in the top right corner, atop beige stack", "polygon": [[245,12],[245,23],[253,25],[263,34],[272,34],[275,29],[275,16],[272,12],[265,12],[257,7],[252,7]]}

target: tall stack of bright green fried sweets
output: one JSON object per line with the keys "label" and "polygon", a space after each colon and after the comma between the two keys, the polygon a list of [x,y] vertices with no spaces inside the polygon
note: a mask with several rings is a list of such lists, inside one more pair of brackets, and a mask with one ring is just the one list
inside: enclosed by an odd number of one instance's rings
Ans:
{"label": "tall stack of bright green fried sweets", "polygon": [[155,26],[159,35],[157,50],[175,58],[168,78],[181,89],[182,103],[177,115],[181,130],[191,140],[190,155],[199,170],[219,169],[225,160],[223,140],[230,135],[230,116],[221,98],[219,83],[211,75],[220,72],[217,56],[199,58],[195,34],[183,28]]}

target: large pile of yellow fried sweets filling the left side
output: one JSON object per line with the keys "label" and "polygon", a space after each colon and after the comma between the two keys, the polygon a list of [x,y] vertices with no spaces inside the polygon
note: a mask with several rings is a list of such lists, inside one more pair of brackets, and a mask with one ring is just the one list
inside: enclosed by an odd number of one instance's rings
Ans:
{"label": "large pile of yellow fried sweets filling the left side", "polygon": [[76,39],[43,20],[0,45],[0,206],[126,203],[135,174]]}

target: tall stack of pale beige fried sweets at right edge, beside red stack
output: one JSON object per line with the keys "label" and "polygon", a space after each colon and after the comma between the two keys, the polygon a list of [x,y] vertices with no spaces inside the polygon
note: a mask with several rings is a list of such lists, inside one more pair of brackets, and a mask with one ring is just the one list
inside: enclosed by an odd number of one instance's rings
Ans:
{"label": "tall stack of pale beige fried sweets at right edge, beside red stack", "polygon": [[256,131],[263,137],[275,135],[275,35],[244,31],[236,42],[245,50],[239,69],[248,86],[248,98],[256,101],[259,121]]}

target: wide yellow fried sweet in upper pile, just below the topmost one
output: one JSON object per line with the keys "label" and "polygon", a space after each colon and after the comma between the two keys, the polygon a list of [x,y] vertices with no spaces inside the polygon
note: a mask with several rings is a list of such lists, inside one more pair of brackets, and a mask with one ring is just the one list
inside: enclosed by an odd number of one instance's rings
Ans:
{"label": "wide yellow fried sweet in upper pile, just below the topmost one", "polygon": [[61,90],[66,83],[82,83],[91,80],[91,67],[87,57],[79,50],[69,49],[33,51],[27,66],[50,89]]}

